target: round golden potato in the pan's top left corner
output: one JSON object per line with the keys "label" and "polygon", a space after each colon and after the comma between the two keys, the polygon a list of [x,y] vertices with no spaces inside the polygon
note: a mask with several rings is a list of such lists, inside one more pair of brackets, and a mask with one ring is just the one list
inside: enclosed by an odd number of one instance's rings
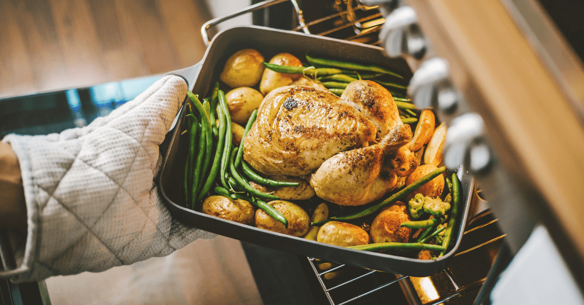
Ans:
{"label": "round golden potato in the pan's top left corner", "polygon": [[253,49],[245,49],[231,55],[219,78],[232,88],[253,87],[262,78],[263,56]]}

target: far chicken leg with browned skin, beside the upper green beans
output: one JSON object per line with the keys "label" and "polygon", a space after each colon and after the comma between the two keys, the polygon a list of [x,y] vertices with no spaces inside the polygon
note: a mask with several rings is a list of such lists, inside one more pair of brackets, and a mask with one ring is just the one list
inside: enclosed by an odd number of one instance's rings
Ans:
{"label": "far chicken leg with browned skin, beside the upper green beans", "polygon": [[376,125],[377,138],[383,138],[391,129],[404,124],[391,93],[372,80],[349,83],[340,99],[361,111]]}

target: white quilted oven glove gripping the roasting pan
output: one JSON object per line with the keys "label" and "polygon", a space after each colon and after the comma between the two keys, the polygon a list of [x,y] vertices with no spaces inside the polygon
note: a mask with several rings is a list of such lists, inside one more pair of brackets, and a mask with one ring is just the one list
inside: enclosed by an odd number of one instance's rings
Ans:
{"label": "white quilted oven glove gripping the roasting pan", "polygon": [[4,236],[17,268],[0,274],[27,282],[100,272],[213,237],[172,219],[154,183],[158,145],[186,92],[185,80],[165,76],[84,128],[6,136],[20,162],[28,229],[20,246],[18,234]]}

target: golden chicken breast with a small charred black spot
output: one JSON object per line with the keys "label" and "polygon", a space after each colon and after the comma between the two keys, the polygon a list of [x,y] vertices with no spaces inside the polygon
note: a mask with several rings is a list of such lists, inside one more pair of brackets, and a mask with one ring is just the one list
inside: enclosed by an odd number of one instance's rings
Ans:
{"label": "golden chicken breast with a small charred black spot", "polygon": [[373,122],[335,94],[305,86],[280,87],[262,101],[245,138],[244,159],[260,173],[298,177],[375,136]]}

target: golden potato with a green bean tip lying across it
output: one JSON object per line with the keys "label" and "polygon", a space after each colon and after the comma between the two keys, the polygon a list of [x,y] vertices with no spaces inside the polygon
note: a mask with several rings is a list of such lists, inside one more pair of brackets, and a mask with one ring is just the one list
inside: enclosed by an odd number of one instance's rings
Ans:
{"label": "golden potato with a green bean tip lying across it", "polygon": [[268,202],[278,212],[280,212],[286,220],[288,220],[288,228],[284,227],[281,222],[267,215],[262,209],[256,211],[255,226],[260,229],[270,230],[273,232],[283,233],[291,236],[302,237],[308,232],[310,225],[310,216],[300,206],[289,201],[274,200]]}

